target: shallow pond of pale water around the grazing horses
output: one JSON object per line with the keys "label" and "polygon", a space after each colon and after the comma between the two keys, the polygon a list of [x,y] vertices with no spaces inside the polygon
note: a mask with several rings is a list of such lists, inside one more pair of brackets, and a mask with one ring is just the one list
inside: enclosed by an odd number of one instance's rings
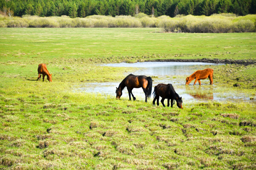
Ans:
{"label": "shallow pond of pale water around the grazing horses", "polygon": [[[189,76],[196,70],[205,68],[202,68],[202,65],[209,65],[210,67],[210,65],[223,64],[203,62],[137,62],[105,64],[104,66],[139,68],[138,70],[131,72],[131,74],[151,76],[153,79],[152,92],[154,91],[154,86],[159,83],[171,83],[174,86],[176,93],[182,96],[183,102],[207,100],[250,101],[250,96],[240,93],[229,93],[228,90],[222,89],[218,87],[218,85],[209,85],[209,79],[201,80],[201,86],[199,86],[198,83],[193,86],[194,81],[192,81],[190,85],[186,86],[186,76]],[[128,74],[130,73],[121,76],[122,78],[125,78]],[[120,82],[83,83],[79,85],[79,87],[76,87],[76,91],[96,94],[100,93],[115,97],[116,87],[119,86]],[[143,93],[142,88],[134,88],[133,94],[138,100],[145,100],[145,94]],[[126,88],[123,90],[121,99],[129,99]],[[151,96],[151,101],[152,99],[153,96]]]}

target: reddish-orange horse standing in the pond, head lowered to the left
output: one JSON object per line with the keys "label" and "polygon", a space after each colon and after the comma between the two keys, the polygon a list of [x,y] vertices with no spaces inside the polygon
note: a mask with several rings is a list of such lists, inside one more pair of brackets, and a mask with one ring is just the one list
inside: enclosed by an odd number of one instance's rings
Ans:
{"label": "reddish-orange horse standing in the pond, head lowered to the left", "polygon": [[204,70],[198,70],[195,71],[195,73],[191,74],[189,77],[186,78],[186,85],[189,85],[189,83],[195,79],[194,85],[196,83],[196,81],[199,82],[199,85],[201,85],[201,79],[207,79],[207,77],[210,79],[210,85],[212,85],[213,79],[213,69],[211,68],[207,68]]}

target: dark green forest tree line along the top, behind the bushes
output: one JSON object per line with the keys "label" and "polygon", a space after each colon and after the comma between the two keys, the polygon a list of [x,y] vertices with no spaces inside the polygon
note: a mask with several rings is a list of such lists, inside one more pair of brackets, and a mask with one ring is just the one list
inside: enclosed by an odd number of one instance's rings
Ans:
{"label": "dark green forest tree line along the top, behind the bushes", "polygon": [[206,15],[234,13],[256,14],[256,0],[0,0],[0,10],[9,16],[26,14],[40,17],[67,15],[131,15],[152,17],[177,14]]}

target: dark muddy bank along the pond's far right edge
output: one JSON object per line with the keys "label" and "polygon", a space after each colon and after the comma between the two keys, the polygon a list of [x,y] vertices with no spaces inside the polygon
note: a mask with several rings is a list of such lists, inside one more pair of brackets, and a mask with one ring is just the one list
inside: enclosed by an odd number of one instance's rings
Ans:
{"label": "dark muddy bank along the pond's far right edge", "polygon": [[153,59],[147,60],[145,62],[207,62],[207,63],[224,63],[224,64],[242,64],[242,65],[250,65],[255,64],[256,59]]}

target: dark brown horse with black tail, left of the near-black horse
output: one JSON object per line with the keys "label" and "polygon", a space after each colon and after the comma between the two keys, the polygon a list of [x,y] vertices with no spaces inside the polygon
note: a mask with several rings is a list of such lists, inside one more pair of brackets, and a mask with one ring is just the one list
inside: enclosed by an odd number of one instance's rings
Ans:
{"label": "dark brown horse with black tail, left of the near-black horse", "polygon": [[129,99],[131,100],[131,95],[134,100],[136,98],[132,94],[132,89],[134,88],[142,88],[145,93],[145,102],[147,102],[147,99],[151,96],[152,91],[152,79],[151,77],[146,76],[135,76],[133,74],[129,74],[125,79],[122,80],[122,82],[119,84],[118,88],[116,88],[116,98],[120,99],[122,96],[122,90],[124,88],[127,88],[129,93]]}

